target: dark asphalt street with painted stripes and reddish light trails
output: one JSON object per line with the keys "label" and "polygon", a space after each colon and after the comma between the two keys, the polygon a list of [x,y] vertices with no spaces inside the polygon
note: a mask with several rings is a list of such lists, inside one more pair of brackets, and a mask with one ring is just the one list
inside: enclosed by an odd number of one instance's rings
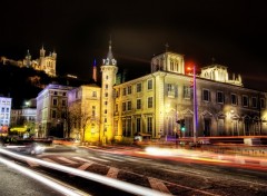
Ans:
{"label": "dark asphalt street with painted stripes and reddish light trails", "polygon": [[[69,149],[69,150],[68,150]],[[267,167],[244,164],[231,156],[181,149],[141,149],[138,147],[55,148],[34,157],[47,163],[77,168],[119,182],[146,187],[167,195],[266,195]],[[241,159],[238,156],[238,159]],[[91,195],[130,195],[57,171],[33,161],[24,167],[44,173]],[[254,167],[253,167],[254,166]],[[135,194],[134,194],[135,195]]]}

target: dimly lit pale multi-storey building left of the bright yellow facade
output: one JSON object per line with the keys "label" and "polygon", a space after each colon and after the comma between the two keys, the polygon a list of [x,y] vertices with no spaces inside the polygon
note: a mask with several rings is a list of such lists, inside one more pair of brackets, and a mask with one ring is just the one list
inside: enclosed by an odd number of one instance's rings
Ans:
{"label": "dimly lit pale multi-storey building left of the bright yellow facade", "polygon": [[50,84],[38,94],[36,121],[38,137],[65,137],[68,112],[67,92],[71,89],[72,87]]}

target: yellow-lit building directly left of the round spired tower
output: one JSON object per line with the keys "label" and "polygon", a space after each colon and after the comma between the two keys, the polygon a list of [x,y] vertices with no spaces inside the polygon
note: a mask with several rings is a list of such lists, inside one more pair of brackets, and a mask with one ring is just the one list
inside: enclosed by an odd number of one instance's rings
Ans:
{"label": "yellow-lit building directly left of the round spired tower", "polygon": [[70,137],[99,143],[101,88],[95,84],[68,91]]}

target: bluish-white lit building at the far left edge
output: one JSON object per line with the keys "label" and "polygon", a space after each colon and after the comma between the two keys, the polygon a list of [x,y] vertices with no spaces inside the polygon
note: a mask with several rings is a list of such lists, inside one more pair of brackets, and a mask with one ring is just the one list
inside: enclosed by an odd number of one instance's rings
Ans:
{"label": "bluish-white lit building at the far left edge", "polygon": [[9,97],[0,97],[0,135],[7,135],[10,126],[12,99]]}

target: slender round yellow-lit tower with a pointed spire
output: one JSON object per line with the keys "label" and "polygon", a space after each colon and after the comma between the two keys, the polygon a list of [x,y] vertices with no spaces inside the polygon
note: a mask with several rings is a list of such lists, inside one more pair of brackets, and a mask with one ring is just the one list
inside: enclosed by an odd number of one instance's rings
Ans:
{"label": "slender round yellow-lit tower with a pointed spire", "polygon": [[102,85],[101,85],[101,127],[100,139],[103,144],[113,139],[113,85],[118,72],[117,61],[111,51],[111,40],[106,59],[102,60]]}

